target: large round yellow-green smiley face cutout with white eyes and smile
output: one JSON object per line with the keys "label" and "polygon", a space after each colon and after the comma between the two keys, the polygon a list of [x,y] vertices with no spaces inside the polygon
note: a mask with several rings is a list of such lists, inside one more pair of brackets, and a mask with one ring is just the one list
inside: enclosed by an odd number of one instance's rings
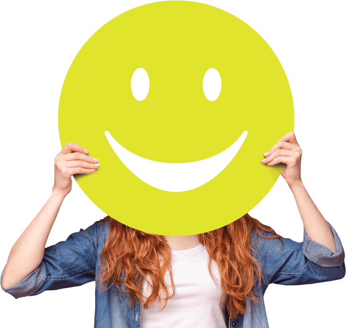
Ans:
{"label": "large round yellow-green smiley face cutout with white eyes and smile", "polygon": [[294,128],[273,50],[222,9],[161,1],[98,29],[75,56],[58,108],[61,146],[100,168],[75,176],[102,211],[166,236],[211,231],[252,210],[283,164],[263,154]]}

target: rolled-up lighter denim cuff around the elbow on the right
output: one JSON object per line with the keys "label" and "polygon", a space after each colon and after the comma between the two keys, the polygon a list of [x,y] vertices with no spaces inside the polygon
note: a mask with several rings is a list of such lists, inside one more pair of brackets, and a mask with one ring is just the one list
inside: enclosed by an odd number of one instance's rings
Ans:
{"label": "rolled-up lighter denim cuff around the elbow on the right", "polygon": [[333,253],[326,246],[323,246],[315,242],[314,240],[312,240],[305,232],[305,229],[303,229],[304,230],[303,254],[306,256],[306,258],[309,261],[316,263],[319,266],[324,266],[324,267],[341,266],[345,262],[344,247],[335,229],[332,227],[332,225],[329,222],[328,222],[328,225],[334,235],[337,253]]}

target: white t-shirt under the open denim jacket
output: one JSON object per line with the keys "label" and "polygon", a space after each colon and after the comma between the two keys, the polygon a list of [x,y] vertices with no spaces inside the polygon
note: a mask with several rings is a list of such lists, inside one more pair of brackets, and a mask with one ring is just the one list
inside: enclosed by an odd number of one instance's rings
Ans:
{"label": "white t-shirt under the open denim jacket", "polygon": [[[165,294],[160,290],[161,304],[158,298],[149,304],[145,310],[141,302],[141,327],[143,328],[191,328],[196,325],[198,318],[199,328],[226,328],[224,307],[226,294],[220,299],[220,273],[214,260],[210,270],[214,274],[218,286],[213,281],[208,270],[208,252],[204,245],[185,250],[172,250],[172,277],[175,285],[175,295],[164,306]],[[147,276],[149,279],[150,277]],[[165,281],[169,287],[169,296],[172,295],[172,285],[169,272],[166,272]],[[151,286],[144,282],[143,295],[148,297]]]}

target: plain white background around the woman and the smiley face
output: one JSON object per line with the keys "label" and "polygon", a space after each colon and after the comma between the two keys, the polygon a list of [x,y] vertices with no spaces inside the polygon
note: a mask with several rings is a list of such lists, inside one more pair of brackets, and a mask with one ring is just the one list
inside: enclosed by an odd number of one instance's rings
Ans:
{"label": "plain white background around the woman and the smiley face", "polygon": [[[88,8],[84,4],[80,7],[30,4],[8,12],[4,31],[7,59],[3,68],[9,73],[4,88],[7,104],[3,105],[2,127],[9,129],[9,134],[3,137],[6,152],[2,152],[2,176],[3,181],[9,177],[4,209],[9,203],[10,212],[2,224],[3,266],[11,246],[51,195],[54,157],[61,150],[58,101],[73,58],[102,25],[145,3],[148,2],[129,1],[121,7],[100,3]],[[343,240],[340,206],[343,202],[339,191],[343,178],[340,174],[343,136],[339,136],[340,88],[336,82],[340,58],[334,11],[262,4],[237,7],[223,3],[210,2],[254,28],[279,58],[293,95],[294,133],[303,149],[303,183]],[[301,218],[281,176],[249,214],[283,237],[302,241]],[[73,181],[72,192],[61,206],[46,246],[65,240],[104,216],[106,213]],[[2,311],[15,320],[15,326],[34,323],[49,327],[93,327],[94,288],[94,283],[89,283],[78,289],[47,291],[16,301],[3,292]],[[342,288],[343,280],[305,286],[270,285],[264,298],[270,327],[338,327]]]}

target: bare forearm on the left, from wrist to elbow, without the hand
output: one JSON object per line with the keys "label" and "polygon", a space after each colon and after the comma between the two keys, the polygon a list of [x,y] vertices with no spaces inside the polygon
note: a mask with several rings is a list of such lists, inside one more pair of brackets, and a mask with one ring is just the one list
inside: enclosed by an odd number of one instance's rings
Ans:
{"label": "bare forearm on the left, from wrist to elbow, without the hand", "polygon": [[43,208],[12,246],[2,273],[2,288],[16,285],[41,263],[47,239],[64,196],[52,193]]}

